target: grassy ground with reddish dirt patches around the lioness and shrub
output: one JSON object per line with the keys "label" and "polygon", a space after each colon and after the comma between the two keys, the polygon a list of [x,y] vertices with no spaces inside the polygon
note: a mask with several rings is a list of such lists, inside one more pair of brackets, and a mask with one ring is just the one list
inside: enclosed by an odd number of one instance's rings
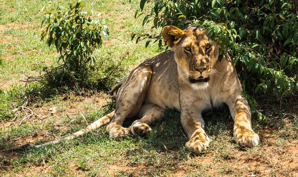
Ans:
{"label": "grassy ground with reddish dirt patches around the lioness and shrub", "polygon": [[[296,177],[298,176],[297,95],[256,95],[253,129],[260,136],[255,148],[244,148],[232,140],[233,121],[228,108],[205,112],[206,133],[213,140],[208,150],[194,155],[185,149],[187,137],[180,113],[167,110],[141,138],[110,139],[103,126],[73,141],[37,150],[20,150],[26,143],[41,144],[64,137],[113,110],[107,89],[55,92],[44,97],[38,83],[26,85],[26,76],[39,76],[57,65],[55,49],[40,41],[47,0],[0,0],[0,176],[98,176],[98,177]],[[120,62],[125,73],[148,57],[160,53],[156,44],[131,41],[131,34],[146,29],[135,19],[137,0],[84,0],[86,11],[101,12],[110,28],[110,39],[95,56]],[[121,15],[120,15],[121,14]],[[94,15],[93,15],[94,16]],[[96,17],[96,15],[95,15]],[[94,17],[94,18],[95,18]],[[37,91],[36,91],[37,88]],[[29,102],[30,110],[15,109]],[[53,111],[55,108],[56,111]],[[49,111],[49,109],[51,109]],[[82,116],[84,115],[84,116]],[[22,121],[23,120],[23,121]],[[22,121],[22,122],[21,122]],[[126,126],[133,121],[129,119]]]}

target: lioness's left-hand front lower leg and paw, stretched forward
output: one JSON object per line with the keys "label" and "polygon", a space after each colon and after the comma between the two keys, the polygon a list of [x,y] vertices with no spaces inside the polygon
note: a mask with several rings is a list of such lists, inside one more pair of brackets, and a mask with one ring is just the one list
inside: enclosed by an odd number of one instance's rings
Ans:
{"label": "lioness's left-hand front lower leg and paw, stretched forward", "polygon": [[189,141],[185,144],[186,148],[199,154],[201,151],[207,149],[211,139],[208,138],[203,129],[205,122],[201,111],[194,112],[193,110],[187,108],[181,110],[181,123],[189,138]]}

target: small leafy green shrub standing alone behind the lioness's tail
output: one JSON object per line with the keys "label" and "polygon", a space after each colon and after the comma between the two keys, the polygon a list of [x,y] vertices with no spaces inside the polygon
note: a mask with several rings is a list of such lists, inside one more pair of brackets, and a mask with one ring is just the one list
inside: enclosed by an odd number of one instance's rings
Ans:
{"label": "small leafy green shrub standing alone behind the lioness's tail", "polygon": [[108,28],[82,11],[82,1],[71,1],[68,7],[51,5],[42,21],[41,39],[46,40],[49,47],[55,45],[60,54],[60,66],[48,72],[47,80],[57,86],[86,86],[92,71],[90,65],[96,62],[91,55],[94,49],[101,47],[102,36],[107,37]]}

